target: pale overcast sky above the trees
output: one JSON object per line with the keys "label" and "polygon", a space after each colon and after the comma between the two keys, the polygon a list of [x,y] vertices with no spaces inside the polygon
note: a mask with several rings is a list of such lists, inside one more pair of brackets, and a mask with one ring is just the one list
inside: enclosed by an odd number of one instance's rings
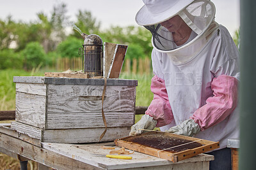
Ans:
{"label": "pale overcast sky above the trees", "polygon": [[[212,2],[216,6],[216,22],[227,27],[233,36],[240,25],[239,0]],[[0,0],[0,18],[4,20],[12,15],[16,21],[35,21],[36,13],[43,11],[50,17],[53,6],[60,3],[67,4],[67,15],[73,21],[79,10],[91,11],[92,16],[101,23],[102,29],[107,29],[110,25],[137,25],[134,18],[143,6],[142,0]]]}

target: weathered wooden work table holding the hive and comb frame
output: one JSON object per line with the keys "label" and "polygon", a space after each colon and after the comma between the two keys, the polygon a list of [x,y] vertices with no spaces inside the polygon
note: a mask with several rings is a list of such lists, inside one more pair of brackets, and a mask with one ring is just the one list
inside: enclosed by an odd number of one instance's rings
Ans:
{"label": "weathered wooden work table holding the hive and comb frame", "polygon": [[[15,132],[0,124],[0,152],[12,157],[29,159],[54,169],[209,169],[212,155],[200,154],[177,163],[143,153],[132,153],[131,160],[95,157],[92,153],[108,154],[101,146],[108,143],[62,144],[40,143],[26,134]],[[116,150],[119,149],[115,146]],[[131,151],[130,151],[131,152]]]}

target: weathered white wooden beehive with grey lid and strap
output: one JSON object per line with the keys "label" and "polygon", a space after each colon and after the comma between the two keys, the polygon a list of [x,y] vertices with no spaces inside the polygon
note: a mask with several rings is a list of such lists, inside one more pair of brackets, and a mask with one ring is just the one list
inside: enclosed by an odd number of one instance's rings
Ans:
{"label": "weathered white wooden beehive with grey lid and strap", "polygon": [[[101,101],[104,79],[15,76],[13,81],[16,83],[16,122],[12,127],[17,131],[27,132],[44,142],[63,143],[65,135],[70,138],[65,143],[99,140],[105,129]],[[129,134],[134,124],[137,83],[137,80],[107,80],[103,107],[108,131],[102,141]],[[91,137],[94,135],[97,139],[89,139],[90,132],[94,133]],[[60,139],[61,134],[64,137]],[[88,138],[83,139],[86,136]]]}

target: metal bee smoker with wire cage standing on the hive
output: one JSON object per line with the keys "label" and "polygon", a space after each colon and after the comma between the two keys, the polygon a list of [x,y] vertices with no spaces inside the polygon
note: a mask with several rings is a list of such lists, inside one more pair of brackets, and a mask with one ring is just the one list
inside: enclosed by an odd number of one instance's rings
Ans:
{"label": "metal bee smoker with wire cage standing on the hive", "polygon": [[96,34],[82,34],[84,38],[83,59],[84,73],[88,78],[103,75],[103,43]]}

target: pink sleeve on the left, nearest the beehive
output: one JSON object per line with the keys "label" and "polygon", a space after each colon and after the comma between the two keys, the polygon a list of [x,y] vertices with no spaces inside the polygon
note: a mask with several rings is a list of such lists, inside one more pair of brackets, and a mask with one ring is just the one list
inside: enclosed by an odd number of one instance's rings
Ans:
{"label": "pink sleeve on the left, nearest the beehive", "polygon": [[151,91],[154,94],[154,98],[145,114],[157,120],[156,127],[170,124],[173,120],[173,115],[164,80],[154,76],[151,80]]}

